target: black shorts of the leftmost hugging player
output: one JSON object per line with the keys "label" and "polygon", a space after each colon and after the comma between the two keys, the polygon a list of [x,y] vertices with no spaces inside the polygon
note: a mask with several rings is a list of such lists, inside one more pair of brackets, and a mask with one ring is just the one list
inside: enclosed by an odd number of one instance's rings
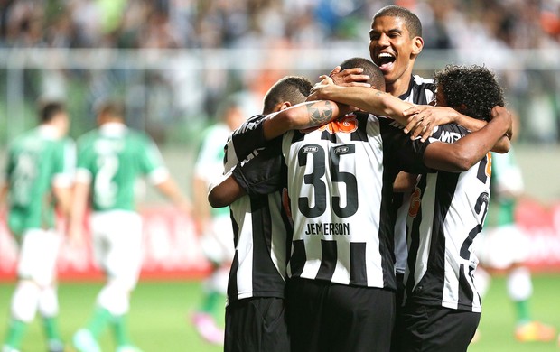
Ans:
{"label": "black shorts of the leftmost hugging player", "polygon": [[252,297],[226,307],[225,352],[289,352],[285,301]]}

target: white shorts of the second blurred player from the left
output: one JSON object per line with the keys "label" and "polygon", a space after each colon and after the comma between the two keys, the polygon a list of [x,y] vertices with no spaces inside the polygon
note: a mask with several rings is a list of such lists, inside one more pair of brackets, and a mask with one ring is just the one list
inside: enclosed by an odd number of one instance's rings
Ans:
{"label": "white shorts of the second blurred player from the left", "polygon": [[95,212],[90,218],[93,255],[107,277],[132,290],[142,268],[142,217],[133,211]]}

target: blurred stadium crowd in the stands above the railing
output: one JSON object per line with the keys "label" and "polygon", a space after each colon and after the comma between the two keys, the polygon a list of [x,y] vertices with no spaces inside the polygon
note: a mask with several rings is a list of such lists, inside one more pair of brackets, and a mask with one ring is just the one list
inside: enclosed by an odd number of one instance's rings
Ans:
{"label": "blurred stadium crowd in the stands above the railing", "polygon": [[553,0],[3,0],[0,44],[235,48],[286,42],[323,47],[367,41],[360,29],[369,25],[371,14],[389,4],[415,9],[425,23],[426,49],[460,48],[472,42],[512,49],[560,45],[560,5]]}

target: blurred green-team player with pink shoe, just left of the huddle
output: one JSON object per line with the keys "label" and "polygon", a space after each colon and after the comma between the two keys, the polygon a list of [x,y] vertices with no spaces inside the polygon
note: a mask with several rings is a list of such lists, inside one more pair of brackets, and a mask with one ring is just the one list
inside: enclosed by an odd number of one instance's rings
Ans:
{"label": "blurred green-team player with pink shoe, just left of the huddle", "polygon": [[233,229],[229,207],[211,208],[208,202],[210,184],[224,173],[224,145],[229,135],[247,118],[243,95],[228,97],[219,108],[219,122],[203,133],[201,149],[192,176],[194,221],[201,235],[201,249],[211,264],[211,273],[202,283],[203,296],[192,322],[207,341],[221,345],[224,341],[223,321],[228,275],[234,256]]}

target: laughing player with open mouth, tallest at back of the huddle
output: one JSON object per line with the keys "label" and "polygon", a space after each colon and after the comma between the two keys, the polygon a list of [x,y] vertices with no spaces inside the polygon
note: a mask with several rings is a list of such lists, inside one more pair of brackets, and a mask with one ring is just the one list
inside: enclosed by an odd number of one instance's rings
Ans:
{"label": "laughing player with open mouth, tallest at back of the huddle", "polygon": [[[456,122],[470,130],[481,128],[479,121],[463,116],[452,108],[433,109],[427,104],[435,97],[434,79],[425,79],[413,75],[415,60],[424,48],[422,38],[422,23],[419,18],[405,7],[387,5],[374,14],[369,31],[369,55],[383,72],[387,93],[417,105],[417,108],[405,111],[405,116],[411,116],[408,126],[417,126],[411,131],[411,136],[416,137],[423,131],[431,131],[436,125]],[[331,78],[338,85],[361,85],[367,76],[363,75],[360,68],[332,70]],[[420,114],[422,113],[422,114]],[[425,129],[424,129],[425,128]],[[401,177],[406,176],[404,173]],[[408,183],[415,181],[415,175],[408,174]],[[406,268],[406,216],[410,203],[411,192],[407,189],[394,193],[393,207],[395,225],[395,270],[397,273],[397,321],[398,311],[404,297],[403,279]],[[394,344],[400,343],[396,338]]]}

